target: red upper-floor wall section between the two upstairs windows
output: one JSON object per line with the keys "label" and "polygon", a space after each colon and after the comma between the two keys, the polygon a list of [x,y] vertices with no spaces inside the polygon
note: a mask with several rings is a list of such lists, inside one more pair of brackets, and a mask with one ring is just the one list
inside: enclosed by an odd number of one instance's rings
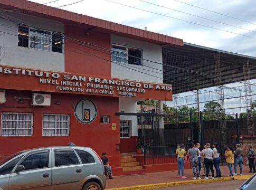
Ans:
{"label": "red upper-floor wall section between the two upstairs windows", "polygon": [[[90,35],[86,35],[86,32],[86,29],[65,25],[65,72],[111,77],[110,51],[90,45],[94,44],[110,50],[110,34],[92,30]],[[82,44],[70,38],[89,44]]]}

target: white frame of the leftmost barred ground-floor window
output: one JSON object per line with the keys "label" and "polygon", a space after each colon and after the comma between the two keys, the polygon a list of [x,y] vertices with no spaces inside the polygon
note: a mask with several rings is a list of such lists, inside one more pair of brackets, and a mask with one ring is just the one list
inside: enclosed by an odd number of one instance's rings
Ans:
{"label": "white frame of the leftmost barred ground-floor window", "polygon": [[[3,115],[4,114],[10,114],[10,115],[16,115],[17,119],[3,119]],[[20,115],[30,115],[31,116],[31,120],[20,120],[19,117]],[[24,113],[24,112],[2,112],[1,115],[1,135],[2,137],[27,137],[27,136],[33,136],[33,118],[34,115],[33,113]],[[16,127],[15,128],[11,128],[11,127],[3,127],[3,121],[11,121],[11,122],[15,122],[16,121]],[[18,127],[18,124],[20,121],[25,121],[25,122],[31,122],[31,128],[21,128]],[[3,135],[3,130],[15,130],[16,129],[16,135]],[[31,134],[30,135],[18,135],[18,130],[31,130]]]}

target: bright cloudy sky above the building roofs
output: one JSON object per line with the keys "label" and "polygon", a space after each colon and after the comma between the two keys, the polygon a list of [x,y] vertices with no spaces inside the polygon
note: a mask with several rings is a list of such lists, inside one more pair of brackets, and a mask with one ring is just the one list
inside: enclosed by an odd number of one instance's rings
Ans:
{"label": "bright cloudy sky above the building roofs", "polygon": [[[32,1],[41,4],[51,2]],[[58,7],[75,2],[79,0],[59,0],[47,5]],[[255,3],[253,0],[84,0],[61,8],[139,29],[147,27],[148,31],[178,37],[188,43],[256,56]]]}

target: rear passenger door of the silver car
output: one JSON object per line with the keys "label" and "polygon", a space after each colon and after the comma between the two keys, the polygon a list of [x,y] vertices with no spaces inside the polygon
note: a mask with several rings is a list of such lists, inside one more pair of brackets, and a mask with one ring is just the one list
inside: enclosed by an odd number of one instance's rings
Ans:
{"label": "rear passenger door of the silver car", "polygon": [[53,150],[52,190],[77,190],[84,176],[84,167],[73,149]]}

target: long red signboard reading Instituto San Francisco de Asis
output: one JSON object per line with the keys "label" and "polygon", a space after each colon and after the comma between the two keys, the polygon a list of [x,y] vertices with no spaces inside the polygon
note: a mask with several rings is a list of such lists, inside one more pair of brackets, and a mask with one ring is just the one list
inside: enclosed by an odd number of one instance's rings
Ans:
{"label": "long red signboard reading Instituto San Francisco de Asis", "polygon": [[0,88],[172,101],[170,84],[0,67]]}

